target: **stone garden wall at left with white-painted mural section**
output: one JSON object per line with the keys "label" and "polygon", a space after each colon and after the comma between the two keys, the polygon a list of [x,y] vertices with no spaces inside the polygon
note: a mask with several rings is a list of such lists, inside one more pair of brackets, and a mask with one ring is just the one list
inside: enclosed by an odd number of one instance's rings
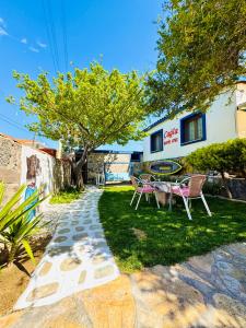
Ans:
{"label": "stone garden wall at left with white-painted mural section", "polygon": [[71,185],[71,165],[48,153],[23,145],[0,136],[0,180],[5,185],[4,202],[22,185],[44,186],[44,195],[51,195]]}

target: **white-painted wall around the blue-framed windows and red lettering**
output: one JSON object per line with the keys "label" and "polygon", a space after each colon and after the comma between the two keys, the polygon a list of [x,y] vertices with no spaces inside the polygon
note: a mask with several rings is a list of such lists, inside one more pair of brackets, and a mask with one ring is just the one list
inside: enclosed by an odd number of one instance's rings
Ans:
{"label": "white-painted wall around the blue-framed windows and red lettering", "polygon": [[[143,141],[143,161],[157,161],[185,156],[198,148],[236,138],[236,92],[233,94],[227,92],[218,96],[206,114],[207,140],[196,143],[180,145],[180,118],[189,115],[190,113],[183,113],[173,120],[166,120],[153,127],[148,131],[149,136],[144,138]],[[164,144],[162,152],[151,153],[150,134],[163,129],[164,136],[165,131],[171,131],[173,128],[178,129],[178,133],[169,139],[173,140],[177,138],[177,141],[169,144]],[[164,139],[164,142],[165,140],[167,139]]]}

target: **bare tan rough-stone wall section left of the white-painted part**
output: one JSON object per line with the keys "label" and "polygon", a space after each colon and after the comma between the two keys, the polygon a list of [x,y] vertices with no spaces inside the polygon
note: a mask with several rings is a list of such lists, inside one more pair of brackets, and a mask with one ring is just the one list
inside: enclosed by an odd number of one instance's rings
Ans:
{"label": "bare tan rough-stone wall section left of the white-painted part", "polygon": [[5,185],[7,201],[19,188],[22,145],[0,136],[0,180]]}

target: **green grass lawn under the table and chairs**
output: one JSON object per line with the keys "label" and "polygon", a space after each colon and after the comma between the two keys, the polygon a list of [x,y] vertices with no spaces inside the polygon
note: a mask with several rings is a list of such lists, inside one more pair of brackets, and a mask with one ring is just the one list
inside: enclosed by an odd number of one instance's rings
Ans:
{"label": "green grass lawn under the table and chairs", "polygon": [[157,210],[154,199],[142,197],[138,211],[130,207],[131,187],[107,187],[99,200],[101,222],[107,243],[124,272],[154,265],[173,265],[213,248],[246,241],[246,204],[207,198],[212,218],[201,200],[192,200],[189,221],[181,199]]}

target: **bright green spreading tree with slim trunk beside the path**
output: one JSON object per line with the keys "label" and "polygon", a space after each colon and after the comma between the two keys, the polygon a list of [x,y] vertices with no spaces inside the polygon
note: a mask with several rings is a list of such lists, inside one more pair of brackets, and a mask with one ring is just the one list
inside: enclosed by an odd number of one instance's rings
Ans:
{"label": "bright green spreading tree with slim trunk beside the path", "polygon": [[77,187],[83,187],[82,167],[87,155],[102,144],[126,144],[142,138],[140,125],[148,115],[143,78],[136,71],[120,73],[93,62],[87,69],[61,74],[48,81],[47,73],[36,80],[14,72],[17,87],[25,92],[21,109],[36,115],[30,129],[65,145],[82,147],[74,164]]}

